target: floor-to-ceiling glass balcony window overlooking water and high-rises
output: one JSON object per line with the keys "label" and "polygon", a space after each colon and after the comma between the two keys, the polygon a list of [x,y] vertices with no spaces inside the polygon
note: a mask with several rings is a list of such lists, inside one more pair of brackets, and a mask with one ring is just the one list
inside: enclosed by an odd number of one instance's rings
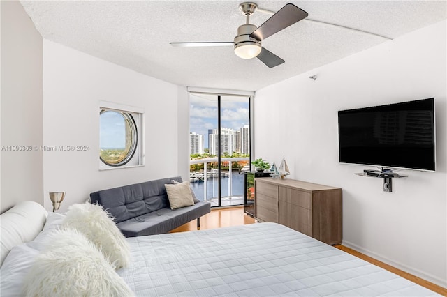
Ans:
{"label": "floor-to-ceiling glass balcony window overlooking water and high-rises", "polygon": [[190,93],[190,181],[212,206],[243,204],[251,151],[250,96]]}

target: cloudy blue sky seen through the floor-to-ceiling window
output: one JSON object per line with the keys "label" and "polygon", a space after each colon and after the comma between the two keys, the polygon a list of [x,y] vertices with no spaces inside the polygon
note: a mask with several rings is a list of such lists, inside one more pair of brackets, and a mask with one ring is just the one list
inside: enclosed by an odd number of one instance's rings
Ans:
{"label": "cloudy blue sky seen through the floor-to-ceiling window", "polygon": [[[208,129],[217,129],[217,95],[191,94],[189,131],[203,135],[208,148]],[[221,127],[240,130],[249,125],[249,97],[221,96]]]}

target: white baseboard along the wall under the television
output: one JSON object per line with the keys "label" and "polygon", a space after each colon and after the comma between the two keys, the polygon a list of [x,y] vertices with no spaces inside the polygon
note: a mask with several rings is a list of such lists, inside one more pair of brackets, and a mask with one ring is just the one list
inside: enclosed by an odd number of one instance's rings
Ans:
{"label": "white baseboard along the wall under the television", "polygon": [[379,260],[385,264],[388,264],[390,266],[393,266],[397,269],[400,269],[402,271],[405,271],[406,273],[410,273],[412,275],[415,275],[417,277],[420,277],[423,280],[427,280],[427,282],[432,282],[433,284],[437,284],[438,286],[441,286],[443,288],[447,287],[446,280],[442,280],[439,277],[436,277],[434,275],[430,275],[428,273],[425,273],[423,271],[420,271],[416,268],[412,268],[410,266],[406,266],[402,263],[399,263],[397,261],[393,261],[391,259],[388,259],[387,257],[383,257],[381,254],[377,254],[375,252],[371,252],[370,250],[367,250],[365,248],[362,248],[354,243],[350,243],[349,241],[343,240],[342,245],[344,245],[346,248],[351,248],[352,250],[356,250],[357,252],[361,252],[362,254],[365,254],[369,257],[372,257],[376,260]]}

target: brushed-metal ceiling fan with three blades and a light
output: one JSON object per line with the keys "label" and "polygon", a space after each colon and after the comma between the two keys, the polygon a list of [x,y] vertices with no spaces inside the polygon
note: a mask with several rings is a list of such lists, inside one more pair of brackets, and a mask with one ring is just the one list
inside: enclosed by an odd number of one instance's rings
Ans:
{"label": "brushed-metal ceiling fan with three blades and a light", "polygon": [[305,17],[305,10],[298,8],[292,3],[286,4],[283,8],[274,13],[261,26],[256,27],[250,24],[250,15],[258,8],[256,3],[241,3],[239,9],[246,16],[247,22],[239,26],[237,36],[234,41],[221,42],[192,42],[192,43],[170,43],[175,47],[213,47],[213,46],[233,46],[235,54],[242,59],[252,59],[254,57],[261,60],[265,65],[272,68],[284,63],[284,60],[273,54],[261,45],[262,40],[278,33],[282,29],[295,24]]}

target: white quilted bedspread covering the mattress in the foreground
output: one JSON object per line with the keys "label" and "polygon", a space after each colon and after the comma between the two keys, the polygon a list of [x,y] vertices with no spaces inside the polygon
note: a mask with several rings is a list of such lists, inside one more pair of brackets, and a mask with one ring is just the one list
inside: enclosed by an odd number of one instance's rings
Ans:
{"label": "white quilted bedspread covering the mattress in the foreground", "polygon": [[274,223],[127,240],[135,296],[439,296]]}

